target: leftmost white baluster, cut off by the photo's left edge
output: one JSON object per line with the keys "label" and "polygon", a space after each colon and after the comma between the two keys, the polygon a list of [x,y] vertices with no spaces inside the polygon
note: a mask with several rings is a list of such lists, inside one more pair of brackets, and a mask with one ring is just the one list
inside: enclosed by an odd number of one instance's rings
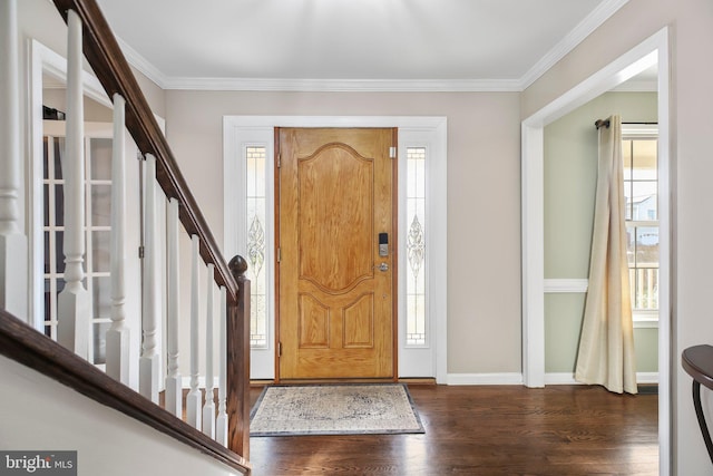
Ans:
{"label": "leftmost white baluster, cut off by the photo's left edge", "polygon": [[16,0],[0,2],[0,308],[25,319],[28,254],[18,204],[22,159],[17,9]]}

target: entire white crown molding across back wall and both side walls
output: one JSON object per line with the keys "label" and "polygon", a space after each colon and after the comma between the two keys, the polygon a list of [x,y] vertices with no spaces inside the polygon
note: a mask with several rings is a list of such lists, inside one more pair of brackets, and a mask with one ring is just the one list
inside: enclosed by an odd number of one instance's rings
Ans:
{"label": "entire white crown molding across back wall and both side walls", "polygon": [[[280,79],[194,78],[162,72],[121,38],[127,61],[162,89],[310,93],[519,93],[599,28],[628,0],[604,0],[519,79]],[[638,86],[644,87],[644,86]],[[622,89],[624,90],[624,89]],[[652,90],[651,86],[646,89]]]}

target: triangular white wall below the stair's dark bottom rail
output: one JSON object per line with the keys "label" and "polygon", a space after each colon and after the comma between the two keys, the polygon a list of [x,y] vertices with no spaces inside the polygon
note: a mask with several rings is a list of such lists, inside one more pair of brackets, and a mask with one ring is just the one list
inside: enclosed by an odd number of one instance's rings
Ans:
{"label": "triangular white wall below the stair's dark bottom rail", "polygon": [[238,474],[2,356],[0,381],[3,450],[77,450],[80,475]]}

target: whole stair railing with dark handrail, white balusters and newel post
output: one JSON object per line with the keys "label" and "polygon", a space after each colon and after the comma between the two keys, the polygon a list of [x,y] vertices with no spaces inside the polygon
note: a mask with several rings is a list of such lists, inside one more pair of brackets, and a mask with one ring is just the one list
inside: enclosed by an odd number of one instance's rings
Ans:
{"label": "whole stair railing with dark handrail, white balusters and newel post", "polygon": [[[0,38],[0,70],[9,71],[3,76],[8,78],[17,75],[17,25],[12,19],[17,11],[17,0],[4,0],[4,17],[10,18],[8,32]],[[244,273],[247,269],[245,260],[235,256],[229,265],[223,259],[217,243],[208,229],[195,198],[193,197],[183,175],[180,174],[170,148],[156,123],[154,115],[136,81],[131,69],[126,61],[111,29],[106,22],[95,0],[53,0],[55,6],[68,25],[68,67],[67,67],[67,139],[66,154],[62,163],[65,179],[65,280],[64,291],[58,295],[58,342],[69,352],[59,350],[55,342],[47,342],[42,333],[36,332],[30,327],[19,324],[11,313],[20,312],[7,305],[6,298],[10,295],[6,285],[9,280],[7,269],[0,269],[0,309],[10,312],[0,312],[0,329],[4,334],[0,340],[19,339],[16,344],[3,346],[1,352],[14,358],[32,368],[51,375],[51,366],[38,365],[43,359],[59,356],[62,365],[71,368],[72,377],[67,372],[53,375],[60,381],[72,385],[76,388],[90,388],[80,390],[98,401],[111,405],[139,420],[148,424],[166,420],[166,411],[150,408],[150,400],[159,402],[160,389],[165,389],[165,408],[174,415],[176,421],[170,421],[167,431],[166,425],[157,426],[158,429],[176,436],[178,439],[204,453],[218,455],[218,459],[228,462],[242,472],[248,473],[248,441],[250,441],[250,281]],[[7,7],[7,9],[6,9]],[[3,27],[6,25],[3,23]],[[14,39],[14,41],[17,38]],[[14,48],[14,54],[12,49]],[[106,372],[108,377],[98,377],[96,369],[81,360],[88,357],[88,341],[90,339],[90,303],[91,297],[84,285],[84,255],[85,250],[85,192],[84,192],[84,93],[81,86],[84,59],[89,62],[97,78],[104,86],[107,95],[114,103],[114,149],[111,171],[111,324],[106,334]],[[7,68],[6,68],[7,66]],[[8,81],[1,87],[0,98],[11,101],[12,95],[19,96],[19,88],[14,81]],[[10,88],[16,88],[11,91]],[[10,103],[10,106],[12,104]],[[14,105],[17,106],[17,105]],[[3,113],[0,117],[2,136],[8,137],[18,134],[17,126],[11,126],[16,108],[10,113]],[[8,115],[9,114],[9,115]],[[4,127],[8,127],[6,130]],[[124,243],[126,234],[127,214],[126,203],[126,163],[124,150],[124,130],[131,135],[134,142],[144,157],[145,177],[145,233],[144,233],[144,290],[143,290],[143,322],[140,330],[129,329],[127,326],[124,302],[126,300],[126,275],[124,273]],[[17,195],[20,191],[18,167],[21,166],[17,143],[10,142],[8,147],[2,147],[3,164],[0,172],[8,172],[7,178],[0,178],[0,244],[7,243],[19,250],[22,255],[22,241],[27,246],[27,239],[18,232],[17,226]],[[7,163],[6,161],[7,157]],[[7,183],[6,183],[7,182]],[[157,198],[157,188],[163,191],[165,198]],[[159,207],[167,202],[167,233],[166,233],[166,262],[167,270],[158,265],[156,255],[163,241],[156,230]],[[215,438],[229,451],[221,453],[214,444],[206,443],[211,439],[196,437],[196,431],[187,428],[187,425],[178,418],[183,414],[183,385],[178,366],[178,314],[180,311],[179,274],[179,233],[180,227],[191,236],[191,389],[186,397],[187,424],[207,437]],[[9,239],[8,239],[9,236]],[[20,244],[17,244],[20,242]],[[6,246],[7,247],[7,246]],[[10,255],[7,250],[0,250],[2,263],[7,263]],[[7,266],[6,266],[7,268]],[[202,283],[199,270],[204,269],[207,275],[205,289],[206,307],[201,309],[198,297]],[[167,368],[165,375],[160,375],[162,360],[158,339],[160,329],[160,315],[157,311],[159,291],[154,283],[159,273],[166,273],[168,285],[165,290],[167,301],[166,337],[163,344],[167,351]],[[218,299],[216,298],[218,295]],[[218,302],[218,305],[214,305]],[[215,310],[219,312],[215,312]],[[215,314],[218,314],[217,326]],[[20,315],[22,317],[22,315]],[[203,324],[201,321],[204,321]],[[205,405],[202,401],[204,394],[199,389],[199,359],[201,344],[198,342],[199,327],[204,326],[205,359],[206,359],[206,391]],[[217,332],[216,332],[217,330]],[[31,332],[30,332],[31,331]],[[138,362],[139,379],[138,391],[140,398],[135,396],[128,387],[107,383],[104,378],[111,378],[128,385],[129,367],[129,339],[141,340],[141,354]],[[219,343],[218,349],[218,383],[217,405],[214,400],[214,362],[213,344]],[[42,349],[49,349],[49,354]],[[28,353],[29,352],[29,353]],[[39,354],[32,354],[39,352]],[[78,360],[79,359],[79,360]],[[85,363],[84,368],[79,361]],[[29,363],[28,363],[29,362]],[[71,372],[70,372],[71,373]],[[90,382],[77,383],[80,379],[89,379]],[[98,388],[116,395],[99,396]],[[147,406],[138,409],[137,407]],[[130,411],[127,411],[130,409]],[[146,414],[153,415],[146,417]],[[158,417],[156,416],[158,415]],[[232,463],[229,463],[232,462]]]}

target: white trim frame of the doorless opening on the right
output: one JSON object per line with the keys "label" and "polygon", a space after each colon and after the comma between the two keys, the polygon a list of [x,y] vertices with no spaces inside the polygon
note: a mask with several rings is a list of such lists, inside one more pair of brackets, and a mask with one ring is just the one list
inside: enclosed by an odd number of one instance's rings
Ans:
{"label": "white trim frame of the doorless opening on the right", "polygon": [[[658,65],[658,440],[660,470],[671,472],[671,279],[668,30],[664,28],[522,122],[522,378],[545,386],[544,128],[648,67]],[[593,127],[594,127],[593,118]]]}

